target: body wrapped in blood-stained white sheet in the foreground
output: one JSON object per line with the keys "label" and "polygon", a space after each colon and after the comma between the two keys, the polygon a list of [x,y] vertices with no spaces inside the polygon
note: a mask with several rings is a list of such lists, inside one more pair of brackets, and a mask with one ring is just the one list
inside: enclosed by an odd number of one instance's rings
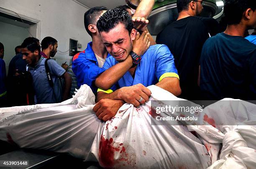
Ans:
{"label": "body wrapped in blood-stained white sheet in the foreground", "polygon": [[[255,168],[256,128],[250,120],[255,119],[253,104],[241,102],[247,108],[239,118],[249,122],[247,126],[215,128],[184,122],[178,126],[151,125],[151,100],[182,99],[156,86],[148,88],[152,94],[146,104],[138,108],[124,104],[106,123],[92,111],[95,98],[86,85],[73,99],[62,103],[0,108],[0,139],[20,147],[67,152],[86,161],[98,161],[106,168],[200,169],[211,164],[211,168],[227,168],[235,163]],[[232,105],[223,105],[218,111],[230,113],[215,117],[211,106],[198,117],[207,114],[220,124],[230,114],[238,114]],[[249,114],[250,109],[254,113]],[[190,131],[195,131],[197,137]]]}

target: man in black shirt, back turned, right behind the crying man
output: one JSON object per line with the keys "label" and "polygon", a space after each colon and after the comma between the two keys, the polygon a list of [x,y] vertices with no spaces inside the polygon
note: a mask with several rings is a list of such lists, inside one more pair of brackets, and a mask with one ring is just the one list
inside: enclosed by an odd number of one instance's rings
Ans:
{"label": "man in black shirt, back turned, right behind the crying man", "polygon": [[180,97],[184,99],[199,99],[200,96],[199,60],[209,34],[204,22],[195,16],[201,13],[203,3],[202,0],[177,0],[178,19],[156,37],[156,43],[167,45],[174,56],[180,75]]}

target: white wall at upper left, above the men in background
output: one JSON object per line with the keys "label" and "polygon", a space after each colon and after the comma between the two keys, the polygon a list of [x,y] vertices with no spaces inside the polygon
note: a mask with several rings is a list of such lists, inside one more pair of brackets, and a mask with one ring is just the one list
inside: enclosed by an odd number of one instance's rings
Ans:
{"label": "white wall at upper left, above the men in background", "polygon": [[[46,36],[58,41],[58,50],[69,50],[69,38],[78,40],[82,49],[87,47],[91,37],[84,28],[84,12],[88,9],[73,0],[0,0],[0,7],[13,10],[18,14],[40,20],[41,40]],[[57,52],[56,61],[69,63],[69,52]]]}

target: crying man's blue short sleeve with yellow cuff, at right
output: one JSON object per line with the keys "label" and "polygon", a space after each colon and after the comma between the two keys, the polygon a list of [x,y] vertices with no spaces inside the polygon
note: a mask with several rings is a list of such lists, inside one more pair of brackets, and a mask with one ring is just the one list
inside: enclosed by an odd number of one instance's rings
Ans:
{"label": "crying man's blue short sleeve with yellow cuff, at right", "polygon": [[159,82],[165,77],[177,77],[178,71],[174,64],[174,57],[166,45],[161,45],[157,50],[154,50],[156,55],[156,77]]}

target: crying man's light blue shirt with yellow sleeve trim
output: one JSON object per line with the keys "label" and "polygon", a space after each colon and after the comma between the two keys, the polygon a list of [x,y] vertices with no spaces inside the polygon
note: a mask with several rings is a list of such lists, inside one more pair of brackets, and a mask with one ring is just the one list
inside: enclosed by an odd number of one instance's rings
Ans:
{"label": "crying man's light blue shirt with yellow sleeve trim", "polygon": [[[110,56],[106,59],[103,68],[107,70],[117,63],[115,58]],[[130,72],[126,72],[109,90],[98,89],[98,92],[111,93],[121,87],[132,86],[138,83],[147,87],[155,85],[165,77],[177,77],[179,79],[173,55],[166,45],[153,45],[141,56],[141,62],[137,65],[134,79]]]}

